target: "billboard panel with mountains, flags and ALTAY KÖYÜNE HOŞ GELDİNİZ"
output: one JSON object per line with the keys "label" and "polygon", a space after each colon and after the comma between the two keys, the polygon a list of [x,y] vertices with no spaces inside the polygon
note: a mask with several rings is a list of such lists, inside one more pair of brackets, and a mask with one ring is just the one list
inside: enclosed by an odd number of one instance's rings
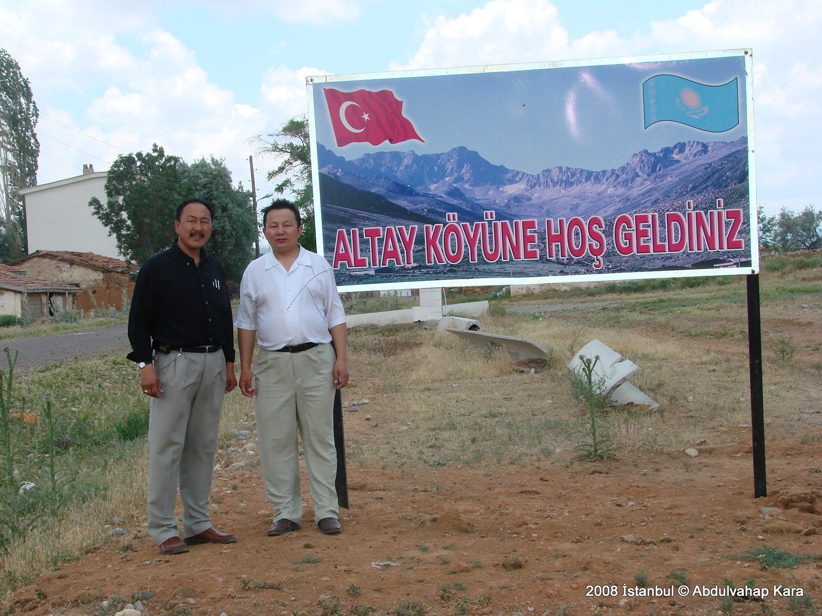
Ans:
{"label": "billboard panel with mountains, flags and ALTAY K\u00d6Y\u00dcNE HO\u015e GELD\u0130N\u0130Z", "polygon": [[341,290],[751,274],[750,50],[307,79]]}

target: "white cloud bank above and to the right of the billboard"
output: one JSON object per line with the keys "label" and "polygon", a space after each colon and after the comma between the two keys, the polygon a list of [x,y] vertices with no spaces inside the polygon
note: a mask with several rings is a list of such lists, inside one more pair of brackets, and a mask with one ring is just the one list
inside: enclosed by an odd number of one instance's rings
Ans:
{"label": "white cloud bank above and to the right of the billboard", "polygon": [[760,198],[810,202],[820,197],[812,178],[822,175],[822,155],[811,143],[822,134],[822,68],[810,56],[822,42],[820,25],[817,0],[714,0],[630,37],[605,30],[570,39],[549,0],[490,0],[468,14],[437,17],[418,50],[391,68],[753,48]]}

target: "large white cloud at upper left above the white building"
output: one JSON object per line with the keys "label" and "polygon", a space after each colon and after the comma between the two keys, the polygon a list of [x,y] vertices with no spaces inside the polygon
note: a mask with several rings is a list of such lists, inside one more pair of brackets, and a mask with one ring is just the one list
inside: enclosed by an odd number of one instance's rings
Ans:
{"label": "large white cloud at upper left above the white building", "polygon": [[[76,175],[83,163],[104,170],[123,149],[153,142],[189,161],[242,161],[253,151],[247,139],[271,121],[235,103],[167,30],[117,2],[5,4],[0,39],[40,103],[40,182]],[[89,101],[80,113],[60,104],[72,95]],[[247,175],[247,163],[240,168]]]}

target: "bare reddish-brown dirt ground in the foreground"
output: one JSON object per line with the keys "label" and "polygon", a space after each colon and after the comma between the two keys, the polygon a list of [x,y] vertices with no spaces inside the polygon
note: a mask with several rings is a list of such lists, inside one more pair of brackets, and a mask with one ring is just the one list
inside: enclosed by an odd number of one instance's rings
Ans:
{"label": "bare reddish-brown dirt ground in the foreground", "polygon": [[[805,313],[785,318],[780,327],[797,340],[818,339],[818,312],[810,320]],[[746,351],[713,338],[681,342]],[[815,351],[802,354],[802,363],[819,361]],[[346,397],[399,403],[375,390],[375,376],[360,372]],[[347,414],[347,437],[373,430],[364,410],[372,407]],[[809,412],[820,411],[817,404]],[[570,450],[533,465],[349,462],[351,508],[342,510],[341,535],[316,530],[307,499],[301,531],[268,537],[259,467],[223,467],[254,450],[252,433],[215,472],[212,521],[238,535],[237,543],[164,557],[135,512],[116,524],[124,536],[39,577],[12,600],[21,612],[66,616],[113,614],[141,596],[144,614],[177,616],[369,608],[397,616],[811,614],[809,597],[822,598],[822,437],[769,431],[769,496],[760,499],[753,498],[750,427],[712,428],[703,439],[692,445],[695,457],[646,448],[604,462],[577,461]],[[778,566],[779,550],[797,557],[796,565]],[[746,583],[767,596],[718,596],[728,584]]]}

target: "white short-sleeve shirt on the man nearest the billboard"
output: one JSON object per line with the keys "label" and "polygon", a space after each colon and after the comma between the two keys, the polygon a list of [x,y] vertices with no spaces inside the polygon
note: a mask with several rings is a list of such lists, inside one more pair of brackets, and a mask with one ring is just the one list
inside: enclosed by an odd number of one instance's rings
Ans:
{"label": "white short-sleeve shirt on the man nearest the billboard", "polygon": [[345,323],[343,302],[330,265],[300,247],[289,271],[273,252],[253,260],[240,283],[240,329],[256,329],[268,351],[303,342],[331,342],[329,329]]}

